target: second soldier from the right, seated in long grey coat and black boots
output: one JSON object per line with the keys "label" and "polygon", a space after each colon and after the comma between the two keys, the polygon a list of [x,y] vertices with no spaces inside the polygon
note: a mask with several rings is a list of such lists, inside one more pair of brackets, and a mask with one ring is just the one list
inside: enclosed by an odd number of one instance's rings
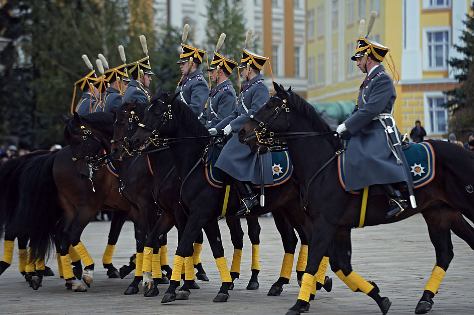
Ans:
{"label": "second soldier from the right, seated in long grey coat and black boots", "polygon": [[[224,129],[224,134],[229,136],[239,130],[251,115],[254,115],[270,98],[270,91],[263,82],[260,71],[268,60],[246,50],[253,30],[250,29],[245,41],[242,60],[238,68],[242,69],[242,77],[246,84],[242,87],[238,97],[237,109],[227,118],[218,123],[214,128],[217,131]],[[236,215],[245,215],[250,209],[259,204],[256,195],[252,192],[249,183],[255,185],[273,184],[272,155],[262,154],[262,166],[257,159],[257,154],[239,142],[237,135],[233,135],[222,149],[216,162],[216,168],[231,176],[242,199],[242,207]],[[263,168],[263,183],[260,181],[260,167]]]}

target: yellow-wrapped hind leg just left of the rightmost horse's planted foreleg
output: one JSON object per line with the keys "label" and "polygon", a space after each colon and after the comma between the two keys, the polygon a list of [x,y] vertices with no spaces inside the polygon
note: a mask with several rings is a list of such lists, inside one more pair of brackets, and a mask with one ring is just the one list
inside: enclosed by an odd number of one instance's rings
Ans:
{"label": "yellow-wrapped hind leg just left of the rightmost horse's planted foreleg", "polygon": [[290,282],[291,271],[293,269],[293,261],[295,257],[296,244],[298,239],[293,227],[290,226],[288,221],[285,219],[281,211],[273,211],[273,218],[277,230],[281,235],[283,242],[283,250],[285,255],[283,257],[282,270],[280,272],[280,278],[275,282],[267,295],[280,295],[283,292],[283,285]]}

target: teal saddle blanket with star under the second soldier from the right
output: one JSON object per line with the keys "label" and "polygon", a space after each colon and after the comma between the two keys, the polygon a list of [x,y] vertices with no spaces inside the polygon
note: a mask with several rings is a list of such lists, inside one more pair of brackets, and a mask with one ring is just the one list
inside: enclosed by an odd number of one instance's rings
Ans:
{"label": "teal saddle blanket with star under the second soldier from the right", "polygon": [[[217,161],[217,157],[221,149],[214,145],[213,149],[207,154],[206,163],[206,178],[209,184],[214,187],[224,187],[225,176],[214,167]],[[273,172],[273,184],[265,185],[265,187],[278,186],[288,181],[293,174],[293,165],[291,164],[290,155],[288,151],[281,152],[270,152],[266,154],[272,154],[272,172]],[[260,186],[254,186],[252,188],[259,188]]]}

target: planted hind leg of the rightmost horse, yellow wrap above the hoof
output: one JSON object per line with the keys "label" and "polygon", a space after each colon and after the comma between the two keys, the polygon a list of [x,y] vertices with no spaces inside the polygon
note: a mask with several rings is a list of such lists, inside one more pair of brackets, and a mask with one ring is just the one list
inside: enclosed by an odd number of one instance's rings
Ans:
{"label": "planted hind leg of the rightmost horse, yellow wrap above the hoof", "polygon": [[[435,247],[436,265],[433,268],[430,280],[428,280],[428,283],[425,286],[423,295],[415,308],[416,314],[424,314],[431,309],[431,306],[433,306],[433,297],[438,292],[444,274],[448,270],[449,264],[454,257],[450,230],[451,220],[446,219],[449,215],[449,211],[443,211],[444,209],[451,210],[452,217],[457,214],[457,211],[447,204],[440,206],[436,210],[432,209],[432,211],[422,212],[423,217],[428,224],[428,233],[430,235],[431,243]],[[441,215],[441,211],[443,214],[447,215]]]}

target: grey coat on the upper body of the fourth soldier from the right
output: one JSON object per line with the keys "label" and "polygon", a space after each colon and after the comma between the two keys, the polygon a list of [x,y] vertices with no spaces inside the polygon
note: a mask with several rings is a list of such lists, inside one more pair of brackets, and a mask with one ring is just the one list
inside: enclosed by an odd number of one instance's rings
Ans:
{"label": "grey coat on the upper body of the fourth soldier from the right", "polygon": [[196,117],[204,111],[206,100],[209,97],[209,85],[206,82],[201,69],[185,75],[178,84],[175,93],[179,93],[179,98],[192,109]]}

